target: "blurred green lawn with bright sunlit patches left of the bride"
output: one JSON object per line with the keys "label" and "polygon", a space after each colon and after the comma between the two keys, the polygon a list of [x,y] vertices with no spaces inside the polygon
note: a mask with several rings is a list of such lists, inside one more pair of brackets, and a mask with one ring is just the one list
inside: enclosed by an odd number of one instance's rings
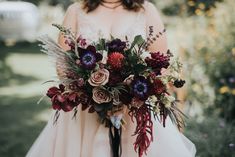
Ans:
{"label": "blurred green lawn with bright sunlit patches left of the bride", "polygon": [[52,76],[37,43],[0,46],[0,157],[24,157],[42,131],[51,110],[49,102],[37,101]]}

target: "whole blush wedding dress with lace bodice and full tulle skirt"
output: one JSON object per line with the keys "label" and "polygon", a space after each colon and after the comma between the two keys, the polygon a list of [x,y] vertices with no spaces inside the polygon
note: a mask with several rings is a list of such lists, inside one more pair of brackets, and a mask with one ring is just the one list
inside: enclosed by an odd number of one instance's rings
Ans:
{"label": "whole blush wedding dress with lace bodice and full tulle skirt", "polygon": [[[78,34],[89,41],[96,41],[105,35],[104,28],[95,24],[94,20],[81,8],[78,11]],[[143,11],[130,13],[130,19],[123,24],[123,30],[112,34],[114,37],[132,41],[134,36],[147,38],[146,18]],[[102,31],[103,30],[103,31]],[[61,111],[56,125],[53,115],[41,132],[26,157],[111,157],[109,129],[98,122],[98,115],[81,111],[78,108],[76,119],[73,112]],[[135,124],[128,115],[124,116],[127,125],[122,133],[122,157],[137,157],[133,143]],[[154,122],[154,141],[144,157],[195,157],[194,144],[172,124],[168,118],[163,128],[158,120]]]}

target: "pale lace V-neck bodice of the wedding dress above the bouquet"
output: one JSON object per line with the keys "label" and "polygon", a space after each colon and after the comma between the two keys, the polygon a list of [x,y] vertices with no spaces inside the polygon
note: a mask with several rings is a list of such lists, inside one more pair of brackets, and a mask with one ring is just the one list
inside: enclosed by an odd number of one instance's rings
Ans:
{"label": "pale lace V-neck bodice of the wedding dress above the bouquet", "polygon": [[136,35],[142,35],[144,39],[147,38],[146,29],[146,18],[144,11],[135,12],[132,21],[124,23],[126,26],[125,31],[114,34],[105,34],[102,28],[99,28],[97,24],[88,16],[88,14],[82,9],[81,4],[79,5],[78,11],[78,30],[77,34],[81,35],[88,42],[97,41],[99,38],[110,39],[111,36],[126,40],[126,37],[130,42],[134,40]]}

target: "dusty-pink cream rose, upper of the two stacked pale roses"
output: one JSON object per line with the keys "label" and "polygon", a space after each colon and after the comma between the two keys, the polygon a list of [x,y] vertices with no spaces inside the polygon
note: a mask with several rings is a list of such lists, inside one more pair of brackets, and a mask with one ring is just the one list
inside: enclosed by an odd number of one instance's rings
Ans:
{"label": "dusty-pink cream rose, upper of the two stacked pale roses", "polygon": [[109,71],[107,69],[99,69],[98,71],[91,74],[88,82],[92,86],[102,86],[109,81]]}

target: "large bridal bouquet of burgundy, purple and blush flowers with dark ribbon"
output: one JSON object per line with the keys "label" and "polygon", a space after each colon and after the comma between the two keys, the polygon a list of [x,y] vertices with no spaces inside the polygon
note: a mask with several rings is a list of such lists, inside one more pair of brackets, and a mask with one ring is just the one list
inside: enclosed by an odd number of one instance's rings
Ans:
{"label": "large bridal bouquet of burgundy, purple and blush flowers with dark ribbon", "polygon": [[[126,111],[136,129],[134,149],[139,157],[147,153],[153,141],[153,122],[158,119],[163,126],[167,116],[182,127],[183,113],[169,92],[170,86],[180,88],[182,64],[172,53],[148,52],[147,48],[158,35],[144,40],[140,35],[133,42],[112,37],[110,40],[88,44],[82,36],[76,38],[70,29],[53,24],[64,35],[71,48],[64,51],[48,36],[41,37],[42,51],[55,61],[60,70],[58,86],[49,88],[47,96],[56,110],[74,112],[78,106],[83,111],[97,114],[100,122],[110,129],[113,156],[120,156],[121,132],[126,124]],[[163,31],[164,32],[164,31]],[[161,34],[161,33],[160,33]]]}

